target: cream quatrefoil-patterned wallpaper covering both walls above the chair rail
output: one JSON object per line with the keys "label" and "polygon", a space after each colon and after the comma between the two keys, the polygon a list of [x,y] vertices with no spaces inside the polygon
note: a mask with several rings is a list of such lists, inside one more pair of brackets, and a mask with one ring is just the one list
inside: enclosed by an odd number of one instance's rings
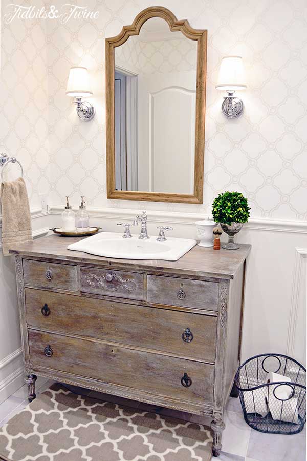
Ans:
{"label": "cream quatrefoil-patterned wallpaper covering both walls above the chair rail", "polygon": [[[31,206],[49,203],[142,208],[108,201],[105,168],[104,38],[117,35],[145,0],[89,0],[94,21],[14,19],[1,33],[1,151],[25,168]],[[24,2],[24,4],[27,4]],[[61,8],[64,2],[52,2]],[[179,19],[208,29],[204,204],[148,203],[147,209],[210,213],[223,190],[242,191],[252,217],[307,219],[307,4],[305,0],[162,1]],[[45,4],[47,8],[51,4]],[[39,5],[36,3],[36,6]],[[245,112],[224,118],[214,85],[221,58],[239,54],[248,89]],[[82,65],[93,81],[96,117],[84,123],[65,95],[69,69]],[[174,169],[173,174],[180,174]]]}

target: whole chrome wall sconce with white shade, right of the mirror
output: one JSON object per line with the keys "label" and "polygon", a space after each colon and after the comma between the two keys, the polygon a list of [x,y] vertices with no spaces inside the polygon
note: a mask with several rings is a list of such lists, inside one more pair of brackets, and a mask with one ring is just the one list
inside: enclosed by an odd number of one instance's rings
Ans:
{"label": "whole chrome wall sconce with white shade, right of the mirror", "polygon": [[241,56],[223,57],[215,88],[228,93],[222,104],[223,114],[228,118],[239,117],[244,105],[242,99],[234,96],[234,92],[246,89],[245,70]]}

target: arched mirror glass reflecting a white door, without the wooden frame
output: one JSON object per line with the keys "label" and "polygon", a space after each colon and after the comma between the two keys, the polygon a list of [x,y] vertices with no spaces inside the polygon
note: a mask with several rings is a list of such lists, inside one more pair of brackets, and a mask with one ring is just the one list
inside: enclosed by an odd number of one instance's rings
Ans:
{"label": "arched mirror glass reflecting a white door, without the wooden frame", "polygon": [[193,193],[196,55],[158,17],[115,48],[116,189]]}

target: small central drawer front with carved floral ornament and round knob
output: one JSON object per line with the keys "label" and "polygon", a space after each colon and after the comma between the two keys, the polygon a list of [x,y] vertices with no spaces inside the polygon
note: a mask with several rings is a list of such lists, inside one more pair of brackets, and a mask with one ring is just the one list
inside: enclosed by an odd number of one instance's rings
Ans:
{"label": "small central drawer front with carved floral ornament and round knob", "polygon": [[144,299],[143,274],[81,267],[81,291],[129,299]]}

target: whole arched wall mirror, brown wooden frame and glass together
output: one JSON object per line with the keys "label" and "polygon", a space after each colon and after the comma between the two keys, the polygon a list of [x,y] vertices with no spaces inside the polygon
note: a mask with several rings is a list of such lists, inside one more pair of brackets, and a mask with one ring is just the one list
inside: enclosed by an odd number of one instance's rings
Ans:
{"label": "whole arched wall mirror, brown wooden frame and glass together", "polygon": [[163,7],[106,39],[108,198],[202,203],[206,54]]}

